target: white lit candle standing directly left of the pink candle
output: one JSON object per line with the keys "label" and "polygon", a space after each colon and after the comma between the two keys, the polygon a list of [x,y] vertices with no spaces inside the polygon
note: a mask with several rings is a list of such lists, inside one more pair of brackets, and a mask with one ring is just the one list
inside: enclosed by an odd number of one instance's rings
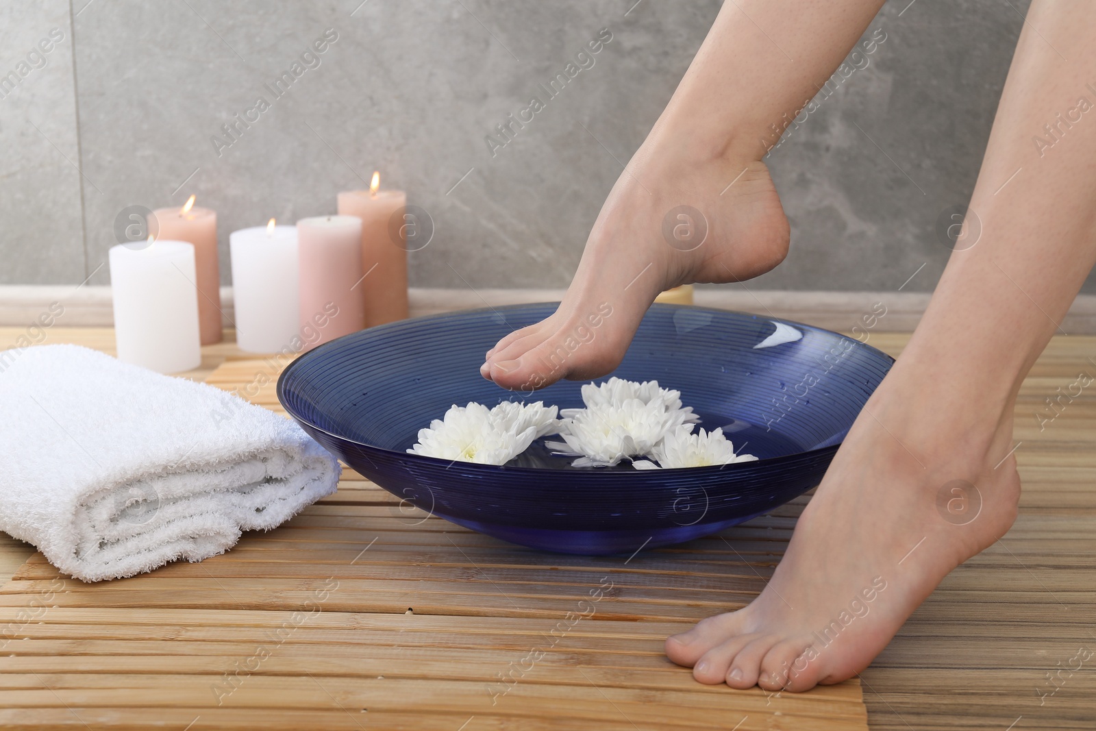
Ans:
{"label": "white lit candle standing directly left of the pink candle", "polygon": [[294,347],[300,312],[297,292],[297,227],[266,226],[232,231],[236,344],[251,353]]}

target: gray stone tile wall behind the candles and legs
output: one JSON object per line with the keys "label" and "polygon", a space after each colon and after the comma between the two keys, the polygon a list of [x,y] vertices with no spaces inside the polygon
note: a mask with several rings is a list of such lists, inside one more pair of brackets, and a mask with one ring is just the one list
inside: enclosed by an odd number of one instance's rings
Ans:
{"label": "gray stone tile wall behind the candles and legs", "polygon": [[[935,221],[973,186],[1026,4],[883,8],[868,33],[887,39],[868,65],[767,159],[792,252],[751,286],[894,289],[925,264],[906,290],[933,288],[948,254]],[[333,212],[340,190],[379,169],[435,221],[430,247],[412,254],[413,285],[564,286],[620,162],[719,5],[4,3],[0,73],[52,28],[64,39],[0,99],[0,283],[106,284],[118,212],[195,193],[218,210],[227,284],[229,231]],[[602,27],[613,41],[595,65],[492,155],[484,137]],[[338,38],[271,93],[327,28]],[[259,98],[269,108],[226,138],[221,125]]]}

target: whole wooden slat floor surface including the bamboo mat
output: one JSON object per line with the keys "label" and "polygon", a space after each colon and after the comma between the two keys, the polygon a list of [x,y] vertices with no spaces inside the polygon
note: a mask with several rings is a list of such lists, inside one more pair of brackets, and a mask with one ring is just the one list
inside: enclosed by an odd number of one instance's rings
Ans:
{"label": "whole wooden slat floor surface including the bamboo mat", "polygon": [[[21,332],[0,329],[0,347]],[[907,338],[872,333],[870,343],[897,355]],[[95,329],[54,328],[48,342],[80,342],[107,352],[113,346],[110,330]],[[212,382],[231,387],[266,367],[229,363],[212,373],[225,359],[243,357],[231,343],[213,346],[203,368],[190,375],[212,374]],[[1096,358],[1096,338],[1058,336],[1025,381],[1016,410],[1020,517],[1002,541],[945,579],[861,674],[870,728],[1096,728],[1096,399],[1086,389],[1059,408],[1042,431],[1035,416],[1047,397],[1059,387],[1065,391],[1082,370],[1096,376],[1089,357]],[[260,389],[255,400],[276,407],[273,387]],[[92,603],[88,597],[94,589],[67,580],[68,594],[53,597],[56,608],[50,605],[44,616],[20,625],[19,636],[28,639],[15,642],[27,649],[16,648],[15,658],[5,658],[11,650],[0,648],[0,708],[8,698],[28,698],[27,705],[49,708],[37,711],[42,723],[85,728],[58,699],[64,698],[99,728],[99,720],[121,721],[137,696],[152,699],[148,705],[157,707],[164,728],[183,729],[199,715],[187,717],[189,709],[209,705],[215,697],[209,684],[228,671],[246,681],[224,686],[232,692],[218,709],[217,723],[239,728],[398,727],[408,720],[409,698],[421,720],[408,728],[458,731],[470,717],[465,731],[503,728],[507,720],[523,729],[570,728],[547,720],[549,707],[559,707],[551,704],[561,690],[566,709],[585,719],[587,728],[695,723],[732,729],[743,716],[741,729],[861,727],[863,719],[847,710],[848,698],[840,695],[858,694],[856,685],[784,694],[767,707],[764,695],[755,693],[760,701],[754,701],[750,694],[733,694],[735,703],[760,705],[734,706],[741,709],[735,716],[720,705],[727,693],[698,687],[661,658],[666,632],[756,594],[801,505],[797,501],[726,532],[722,538],[730,545],[709,538],[644,551],[627,564],[567,559],[546,569],[544,555],[437,518],[410,525],[421,517],[347,473],[339,493],[264,534],[269,542],[261,547],[260,537],[249,534],[226,556],[112,582],[118,589],[109,592],[109,604],[100,601],[106,593],[99,592]],[[377,542],[358,556],[374,538]],[[302,570],[301,550],[315,571]],[[42,592],[59,585],[50,585],[56,571],[32,553],[18,541],[0,541],[0,580],[19,571],[0,596],[0,623],[13,621],[14,605],[25,604],[27,596],[48,596]],[[247,579],[239,578],[241,566]],[[528,682],[523,678],[491,706],[487,684],[498,683],[510,662],[522,667],[536,638],[573,612],[571,603],[605,575],[619,593],[598,602],[592,620],[579,621],[528,672]],[[292,608],[309,596],[319,601],[311,592],[322,590],[329,576],[339,586],[327,592],[320,612],[300,625],[290,621],[292,633],[283,641],[269,639],[294,616]],[[461,580],[459,592],[446,585],[455,576]],[[169,582],[171,589],[152,581]],[[402,614],[409,607],[413,614]],[[124,626],[118,612],[127,613]],[[248,652],[264,640],[276,647],[261,671],[249,671],[244,665],[258,661]],[[500,650],[505,651],[502,666],[495,660]],[[73,673],[72,655],[79,655],[80,673]],[[310,677],[300,676],[296,669],[301,665]],[[36,681],[33,687],[26,685],[28,676]],[[208,678],[197,689],[208,698],[183,681],[198,676]],[[22,679],[13,687],[10,678]],[[477,683],[487,701],[482,712],[468,705],[467,688]],[[164,688],[175,694],[163,698]],[[838,695],[826,695],[833,693]],[[96,711],[102,719],[85,716],[90,706],[80,704],[91,698],[105,704]],[[271,708],[270,698],[284,707]],[[798,705],[785,707],[789,700]],[[293,711],[296,707],[309,710]],[[521,716],[526,708],[546,720]],[[808,720],[802,713],[818,716]],[[0,728],[11,718],[0,716]],[[195,731],[204,722],[199,719]]]}

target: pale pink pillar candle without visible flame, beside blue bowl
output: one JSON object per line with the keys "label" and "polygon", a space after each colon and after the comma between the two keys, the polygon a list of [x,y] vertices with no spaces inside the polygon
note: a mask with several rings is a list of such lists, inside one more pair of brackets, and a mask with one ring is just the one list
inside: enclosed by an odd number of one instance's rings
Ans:
{"label": "pale pink pillar candle without visible flame, beside blue bowl", "polygon": [[315,347],[364,328],[362,219],[301,218],[297,221],[297,255],[304,347]]}

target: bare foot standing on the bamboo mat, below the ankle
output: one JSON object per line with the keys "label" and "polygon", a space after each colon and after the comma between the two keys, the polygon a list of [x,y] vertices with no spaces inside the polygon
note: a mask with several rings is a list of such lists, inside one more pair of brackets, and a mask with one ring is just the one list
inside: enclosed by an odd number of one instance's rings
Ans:
{"label": "bare foot standing on the bamboo mat, below the ankle", "polygon": [[697,681],[799,692],[852,677],[949,571],[1012,526],[1016,464],[1009,456],[994,468],[1012,446],[1011,418],[981,447],[918,439],[903,429],[916,420],[903,410],[917,407],[888,399],[902,389],[887,387],[842,445],[761,595],[666,640],[669,658]]}

